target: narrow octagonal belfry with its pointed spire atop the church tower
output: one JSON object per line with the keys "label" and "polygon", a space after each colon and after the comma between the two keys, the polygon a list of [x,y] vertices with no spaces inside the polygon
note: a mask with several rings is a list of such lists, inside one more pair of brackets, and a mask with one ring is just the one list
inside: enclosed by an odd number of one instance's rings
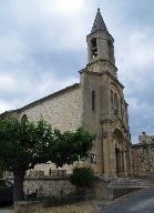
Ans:
{"label": "narrow octagonal belfry with its pointed spire atop the church tower", "polygon": [[[109,70],[109,72],[111,72],[111,74],[116,77],[115,58],[114,58],[114,39],[107,31],[100,8],[97,9],[91,33],[86,37],[86,41],[88,41],[88,67],[90,68],[91,64],[97,62],[99,64],[100,62],[101,63],[105,62],[112,65],[112,69]],[[101,71],[103,71],[102,68],[99,72]]]}

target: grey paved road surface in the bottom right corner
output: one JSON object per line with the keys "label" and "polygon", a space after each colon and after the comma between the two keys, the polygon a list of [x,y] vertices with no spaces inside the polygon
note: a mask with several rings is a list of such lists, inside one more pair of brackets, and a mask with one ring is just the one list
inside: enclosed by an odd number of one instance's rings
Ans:
{"label": "grey paved road surface in the bottom right corner", "polygon": [[154,186],[115,200],[102,207],[101,213],[154,213]]}

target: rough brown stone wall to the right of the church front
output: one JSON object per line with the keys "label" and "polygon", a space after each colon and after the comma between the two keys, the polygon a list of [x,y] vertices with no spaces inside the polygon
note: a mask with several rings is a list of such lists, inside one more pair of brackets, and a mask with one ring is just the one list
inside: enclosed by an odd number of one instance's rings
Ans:
{"label": "rough brown stone wall to the right of the church front", "polygon": [[154,176],[154,142],[133,144],[131,150],[133,176]]}

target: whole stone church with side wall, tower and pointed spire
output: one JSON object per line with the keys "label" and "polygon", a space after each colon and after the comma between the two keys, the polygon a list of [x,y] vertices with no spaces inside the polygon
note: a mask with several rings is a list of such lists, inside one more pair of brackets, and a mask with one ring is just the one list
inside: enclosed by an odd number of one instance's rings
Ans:
{"label": "whole stone church with side wall, tower and pointed spire", "polygon": [[[86,42],[88,64],[80,71],[80,83],[1,115],[27,116],[32,122],[43,118],[61,131],[82,125],[96,134],[84,164],[105,178],[127,178],[132,174],[127,103],[117,79],[114,39],[100,9]],[[37,165],[35,170],[48,172],[52,166]]]}

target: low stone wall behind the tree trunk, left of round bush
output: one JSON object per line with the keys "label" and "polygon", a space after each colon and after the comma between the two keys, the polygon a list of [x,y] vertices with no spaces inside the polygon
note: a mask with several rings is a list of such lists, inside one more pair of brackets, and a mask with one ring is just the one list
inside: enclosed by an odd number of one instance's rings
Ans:
{"label": "low stone wall behind the tree trunk, left of round bush", "polygon": [[[13,182],[13,174],[6,172],[4,179]],[[37,197],[63,196],[75,192],[75,186],[70,183],[65,170],[51,170],[50,176],[44,171],[29,171],[23,184],[25,195]]]}

